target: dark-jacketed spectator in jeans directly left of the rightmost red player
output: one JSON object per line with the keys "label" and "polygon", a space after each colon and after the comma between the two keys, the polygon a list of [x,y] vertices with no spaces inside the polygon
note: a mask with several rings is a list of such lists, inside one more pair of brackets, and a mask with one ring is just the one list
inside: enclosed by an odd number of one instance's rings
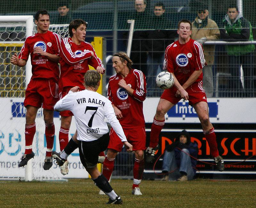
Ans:
{"label": "dark-jacketed spectator in jeans directly left of the rightmost red player", "polygon": [[150,18],[153,30],[147,31],[148,69],[146,76],[147,91],[150,96],[154,96],[153,92],[156,90],[156,75],[163,71],[165,48],[174,42],[175,38],[178,39],[176,30],[170,30],[172,22],[165,17],[164,12],[164,4],[156,3],[154,14]]}

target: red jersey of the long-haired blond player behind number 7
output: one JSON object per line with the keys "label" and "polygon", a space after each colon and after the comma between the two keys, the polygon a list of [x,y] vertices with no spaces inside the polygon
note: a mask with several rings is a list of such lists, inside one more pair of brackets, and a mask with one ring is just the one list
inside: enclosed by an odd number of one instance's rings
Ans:
{"label": "red jersey of the long-haired blond player behind number 7", "polygon": [[146,99],[146,77],[142,71],[131,69],[124,81],[134,89],[132,96],[119,87],[118,82],[122,79],[119,74],[109,78],[108,99],[123,115],[118,119],[123,129],[145,127],[143,115],[143,101]]}

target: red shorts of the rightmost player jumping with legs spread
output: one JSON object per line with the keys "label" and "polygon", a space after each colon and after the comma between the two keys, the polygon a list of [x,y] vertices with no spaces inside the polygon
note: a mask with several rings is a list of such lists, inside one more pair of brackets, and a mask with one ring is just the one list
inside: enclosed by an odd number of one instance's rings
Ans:
{"label": "red shorts of the rightmost player jumping with legs spread", "polygon": [[[193,83],[190,87],[186,89],[188,93],[188,104],[193,105],[198,102],[207,102],[206,95],[204,93],[204,89],[202,86],[202,81]],[[181,98],[175,97],[175,93],[177,92],[176,87],[172,87],[170,89],[164,90],[161,98],[164,100],[170,101],[172,104],[177,104]]]}

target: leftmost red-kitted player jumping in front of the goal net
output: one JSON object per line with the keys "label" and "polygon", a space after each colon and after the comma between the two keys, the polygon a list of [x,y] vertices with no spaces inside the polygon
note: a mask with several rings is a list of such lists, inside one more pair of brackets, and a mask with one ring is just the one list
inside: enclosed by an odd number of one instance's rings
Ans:
{"label": "leftmost red-kitted player jumping in front of the goal net", "polygon": [[44,112],[46,157],[44,170],[52,167],[52,147],[54,142],[55,127],[53,123],[53,106],[58,99],[58,82],[60,70],[61,37],[50,32],[50,17],[46,10],[40,10],[35,15],[37,33],[28,37],[20,51],[19,56],[14,54],[11,63],[23,67],[27,64],[28,56],[31,57],[32,77],[26,89],[24,106],[26,107],[25,126],[25,153],[21,157],[19,167],[27,165],[28,160],[34,158],[32,143],[36,133],[36,114],[42,107]]}

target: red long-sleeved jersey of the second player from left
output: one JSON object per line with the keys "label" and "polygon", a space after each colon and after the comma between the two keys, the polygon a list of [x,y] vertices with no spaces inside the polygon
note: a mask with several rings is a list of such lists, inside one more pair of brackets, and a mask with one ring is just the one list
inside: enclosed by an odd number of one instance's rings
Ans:
{"label": "red long-sleeved jersey of the second player from left", "polygon": [[[92,59],[90,51],[94,53]],[[94,69],[98,66],[104,68],[92,44],[88,42],[76,45],[71,38],[64,38],[61,41],[60,57],[60,90],[66,86],[79,86],[84,89],[84,74],[89,70],[89,65]]]}

